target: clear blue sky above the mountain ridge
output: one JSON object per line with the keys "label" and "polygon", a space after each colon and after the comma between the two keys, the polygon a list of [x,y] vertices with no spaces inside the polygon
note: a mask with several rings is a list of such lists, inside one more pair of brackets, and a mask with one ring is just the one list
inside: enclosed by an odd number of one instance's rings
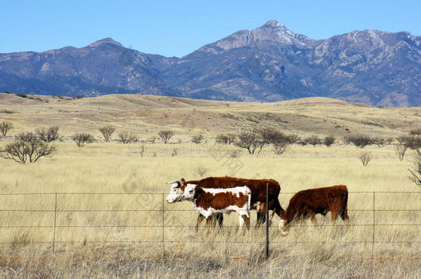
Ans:
{"label": "clear blue sky above the mountain ridge", "polygon": [[112,37],[126,47],[184,56],[270,19],[311,39],[353,30],[421,35],[421,1],[2,1],[0,52],[83,47]]}

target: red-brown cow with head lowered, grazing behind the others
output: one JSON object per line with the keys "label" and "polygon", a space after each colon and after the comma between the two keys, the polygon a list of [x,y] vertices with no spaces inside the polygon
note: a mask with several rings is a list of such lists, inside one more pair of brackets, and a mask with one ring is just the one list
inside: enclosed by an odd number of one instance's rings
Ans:
{"label": "red-brown cow with head lowered, grazing behind the others", "polygon": [[[331,211],[333,225],[335,225],[337,217],[340,217],[345,225],[349,227],[347,203],[348,189],[344,185],[306,189],[297,192],[289,200],[286,211],[281,213],[280,230],[282,234],[288,234],[288,225],[299,218],[304,220],[311,218],[311,221],[317,225],[315,215],[322,214],[325,216],[329,211]],[[281,227],[282,223],[283,226]]]}

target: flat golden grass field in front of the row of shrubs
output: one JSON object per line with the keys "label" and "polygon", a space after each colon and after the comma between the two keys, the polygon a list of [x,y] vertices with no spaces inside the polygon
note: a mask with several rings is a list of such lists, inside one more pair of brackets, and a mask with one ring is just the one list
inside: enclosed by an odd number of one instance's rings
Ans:
{"label": "flat golden grass field in front of the row of shrubs", "polygon": [[[224,154],[225,146],[200,145],[202,154],[187,152],[188,146],[150,144],[147,146],[148,152],[141,157],[135,152],[136,145],[94,143],[77,148],[75,143],[57,143],[58,152],[53,159],[43,159],[34,165],[1,160],[0,168],[7,169],[7,172],[2,172],[0,180],[2,193],[121,193],[58,194],[55,255],[52,255],[50,243],[25,243],[52,241],[52,227],[1,228],[1,241],[14,242],[1,247],[1,272],[11,277],[14,272],[21,277],[34,276],[35,271],[41,277],[53,277],[56,273],[59,277],[68,277],[74,273],[73,276],[77,278],[157,277],[175,273],[182,278],[237,277],[246,274],[251,277],[264,274],[268,277],[291,278],[418,276],[421,241],[419,226],[393,224],[419,225],[420,211],[377,211],[375,241],[382,243],[375,243],[373,256],[386,260],[371,260],[373,212],[352,211],[372,209],[371,193],[349,195],[349,216],[353,225],[349,231],[342,227],[342,221],[332,228],[328,214],[326,217],[318,217],[320,229],[313,227],[310,222],[297,224],[297,227],[291,228],[288,236],[282,237],[277,231],[278,219],[274,217],[271,227],[271,260],[268,262],[262,258],[264,229],[251,229],[245,234],[237,231],[237,216],[231,214],[225,217],[224,229],[214,231],[207,238],[204,229],[199,234],[193,230],[197,214],[191,211],[190,203],[164,205],[164,209],[168,210],[164,218],[166,260],[157,260],[162,257],[162,245],[159,242],[162,239],[162,193],[166,196],[169,190],[169,186],[164,183],[182,177],[200,178],[196,171],[198,165],[208,169],[206,176],[233,175],[235,171],[223,165],[224,159],[217,161],[215,158],[219,157],[206,154],[207,149],[213,150],[214,155]],[[184,149],[186,154],[181,152],[177,156],[170,156],[173,148]],[[363,167],[357,158],[360,149],[351,146],[335,145],[328,148],[294,145],[282,156],[275,156],[267,149],[264,150],[265,154],[258,156],[240,156],[238,160],[242,167],[235,176],[278,180],[282,187],[280,202],[283,207],[286,207],[292,196],[286,193],[344,184],[350,192],[417,192],[378,193],[375,208],[420,210],[420,189],[406,177],[408,161],[400,162],[391,147],[371,147],[367,150],[373,154],[373,160]],[[54,194],[0,198],[1,209],[51,210],[1,211],[3,227],[54,224]],[[158,211],[72,211],[109,209]],[[254,224],[255,213],[252,212]]]}

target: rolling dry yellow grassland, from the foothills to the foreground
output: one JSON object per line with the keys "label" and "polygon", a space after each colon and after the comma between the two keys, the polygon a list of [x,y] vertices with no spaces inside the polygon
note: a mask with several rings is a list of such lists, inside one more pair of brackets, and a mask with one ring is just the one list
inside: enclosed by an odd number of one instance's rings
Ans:
{"label": "rolling dry yellow grassland, from the foothills to the foreground", "polygon": [[[16,112],[0,114],[1,119],[14,123],[11,135],[58,124],[65,136],[63,142],[55,143],[57,154],[52,159],[43,158],[33,165],[0,160],[1,194],[37,193],[0,196],[2,277],[420,278],[421,192],[407,178],[407,158],[411,154],[401,162],[391,145],[358,149],[338,143],[329,148],[293,145],[281,156],[273,154],[268,147],[262,154],[242,154],[233,159],[226,151],[235,147],[216,145],[212,138],[215,132],[237,131],[248,116],[259,116],[265,110],[270,113],[269,118],[277,119],[281,115],[281,119],[286,119],[289,114],[291,118],[286,123],[264,118],[266,116],[251,119],[262,125],[286,125],[284,130],[300,135],[322,136],[335,131],[335,135],[340,136],[347,133],[346,127],[373,136],[398,136],[419,125],[419,108],[380,109],[331,99],[325,99],[324,103],[313,102],[314,99],[297,100],[295,103],[302,102],[301,106],[284,105],[280,110],[276,104],[242,106],[188,99],[173,102],[171,98],[157,96],[104,96],[64,101],[50,97],[49,103],[20,100],[6,94],[0,96],[4,101],[0,103],[0,111]],[[133,102],[126,99],[137,98],[141,103],[129,107]],[[168,107],[162,108],[163,104],[156,99],[164,99]],[[150,101],[148,108],[139,109],[145,100]],[[28,103],[19,105],[16,101]],[[337,104],[333,105],[334,101]],[[49,109],[51,114],[45,110],[45,105],[53,107]],[[60,106],[63,107],[58,108]],[[71,111],[71,107],[77,109]],[[145,116],[128,113],[136,107],[148,110],[148,113]],[[324,111],[329,107],[330,112]],[[81,116],[77,116],[79,112]],[[206,122],[199,117],[199,112],[215,115],[215,118]],[[182,121],[182,115],[186,113],[191,113],[188,114],[190,122]],[[224,114],[234,118],[221,116]],[[297,115],[307,116],[307,121],[294,120]],[[166,118],[170,120],[166,121]],[[140,156],[137,143],[98,142],[78,148],[66,138],[76,130],[94,134],[98,127],[107,123],[146,136],[170,127],[183,142],[146,144],[145,152]],[[189,127],[188,123],[193,124]],[[335,123],[341,127],[335,127]],[[188,143],[189,136],[195,132],[203,132],[208,143]],[[10,139],[3,139],[0,145]],[[174,149],[178,150],[177,156],[171,156]],[[362,151],[373,155],[366,167],[357,158]],[[207,172],[201,174],[199,167]],[[225,216],[222,231],[214,231],[206,237],[204,229],[195,234],[193,226],[197,214],[191,211],[188,202],[162,203],[169,192],[167,181],[225,175],[279,181],[282,188],[280,203],[284,208],[293,193],[301,189],[346,185],[351,192],[351,228],[346,231],[342,221],[337,227],[331,227],[328,214],[317,217],[320,228],[313,227],[310,222],[296,224],[290,234],[283,237],[277,231],[278,219],[274,217],[270,231],[271,257],[266,261],[263,260],[263,228],[253,228],[246,233],[238,231],[237,216],[231,214]],[[374,191],[415,194],[377,193],[373,205]],[[57,194],[57,215],[54,193],[61,193]],[[378,210],[375,220],[371,211],[373,206]],[[413,211],[382,211],[385,209]],[[251,216],[254,225],[255,212]],[[55,254],[52,254],[52,238],[56,242]],[[165,249],[160,242],[163,238]],[[163,256],[165,260],[162,260]]]}

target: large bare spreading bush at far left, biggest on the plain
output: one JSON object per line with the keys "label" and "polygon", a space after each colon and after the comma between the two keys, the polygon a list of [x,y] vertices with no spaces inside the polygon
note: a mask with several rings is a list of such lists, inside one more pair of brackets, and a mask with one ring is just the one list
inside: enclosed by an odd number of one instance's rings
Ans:
{"label": "large bare spreading bush at far left, biggest on the plain", "polygon": [[41,157],[51,158],[56,150],[55,146],[41,141],[34,133],[21,133],[14,137],[14,143],[9,143],[0,149],[0,157],[17,163],[35,163]]}

